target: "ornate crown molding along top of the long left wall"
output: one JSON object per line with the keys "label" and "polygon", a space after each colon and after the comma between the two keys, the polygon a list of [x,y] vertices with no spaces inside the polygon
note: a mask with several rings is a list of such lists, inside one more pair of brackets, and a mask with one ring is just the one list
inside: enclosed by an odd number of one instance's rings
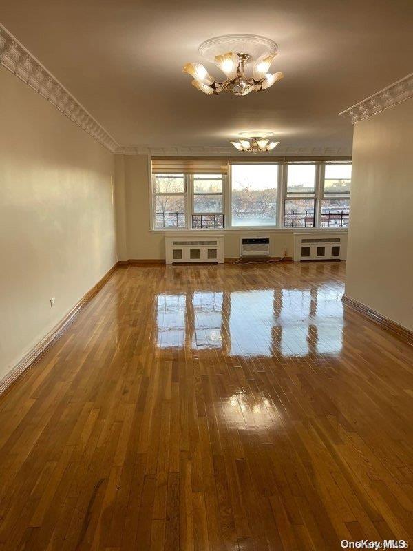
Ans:
{"label": "ornate crown molding along top of the long left wall", "polygon": [[119,147],[109,132],[106,132],[85,107],[1,24],[0,65],[50,101],[109,151],[115,152]]}

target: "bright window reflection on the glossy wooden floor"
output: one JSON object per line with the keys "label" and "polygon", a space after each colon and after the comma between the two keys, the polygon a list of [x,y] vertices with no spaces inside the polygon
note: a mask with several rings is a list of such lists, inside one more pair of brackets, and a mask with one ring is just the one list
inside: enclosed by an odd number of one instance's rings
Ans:
{"label": "bright window reflection on the glossy wooden floor", "polygon": [[[230,357],[338,355],[343,283],[332,278],[307,287],[303,280],[289,288],[159,294],[156,344],[222,350]],[[214,278],[211,287],[220,287],[220,281]],[[251,287],[257,287],[253,280]]]}

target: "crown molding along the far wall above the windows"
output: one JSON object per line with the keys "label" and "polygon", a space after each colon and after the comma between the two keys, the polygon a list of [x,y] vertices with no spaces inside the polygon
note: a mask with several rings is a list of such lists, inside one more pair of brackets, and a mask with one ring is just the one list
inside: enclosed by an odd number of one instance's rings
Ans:
{"label": "crown molding along the far wall above the windows", "polygon": [[[115,153],[123,155],[149,155],[149,156],[224,156],[240,157],[245,154],[237,152],[234,147],[118,147]],[[268,152],[266,157],[285,156],[346,156],[351,155],[351,149],[342,147],[277,147],[274,152]]]}

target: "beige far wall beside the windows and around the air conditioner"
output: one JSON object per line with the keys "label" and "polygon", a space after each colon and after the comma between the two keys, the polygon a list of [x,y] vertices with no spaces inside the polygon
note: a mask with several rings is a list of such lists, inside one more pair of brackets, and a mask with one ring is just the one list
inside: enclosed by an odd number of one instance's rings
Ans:
{"label": "beige far wall beside the windows and around the air conditioner", "polygon": [[[164,233],[150,231],[149,163],[147,156],[116,155],[116,204],[119,260],[165,258]],[[240,236],[271,236],[271,256],[293,256],[294,232],[286,230],[225,231],[225,258],[240,256]],[[297,233],[300,233],[297,230]]]}

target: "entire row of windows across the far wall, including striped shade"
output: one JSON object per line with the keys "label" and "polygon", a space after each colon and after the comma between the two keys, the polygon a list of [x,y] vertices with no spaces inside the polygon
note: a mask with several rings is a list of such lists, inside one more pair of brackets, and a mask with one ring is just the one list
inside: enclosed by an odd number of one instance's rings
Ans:
{"label": "entire row of windows across the far wall, including striped shade", "polygon": [[153,229],[348,227],[350,161],[160,158],[152,167]]}

